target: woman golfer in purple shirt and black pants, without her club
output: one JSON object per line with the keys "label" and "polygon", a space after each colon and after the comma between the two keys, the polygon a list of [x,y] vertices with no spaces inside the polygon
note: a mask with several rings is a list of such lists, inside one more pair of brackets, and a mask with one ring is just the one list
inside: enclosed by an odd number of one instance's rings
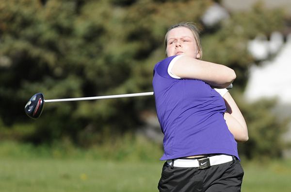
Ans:
{"label": "woman golfer in purple shirt and black pants, without her club", "polygon": [[[234,70],[202,61],[198,31],[178,23],[165,35],[166,55],[155,65],[153,88],[166,162],[160,192],[240,192],[237,141],[247,126],[225,87]],[[215,88],[214,88],[215,87]]]}

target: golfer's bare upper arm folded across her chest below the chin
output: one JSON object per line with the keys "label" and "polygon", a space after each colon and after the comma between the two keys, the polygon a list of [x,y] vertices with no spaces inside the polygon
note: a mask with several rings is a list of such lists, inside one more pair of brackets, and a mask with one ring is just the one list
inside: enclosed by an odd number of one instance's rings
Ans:
{"label": "golfer's bare upper arm folded across her chest below the chin", "polygon": [[211,86],[225,88],[236,78],[234,70],[220,64],[181,56],[172,68],[173,74],[184,79],[199,79]]}

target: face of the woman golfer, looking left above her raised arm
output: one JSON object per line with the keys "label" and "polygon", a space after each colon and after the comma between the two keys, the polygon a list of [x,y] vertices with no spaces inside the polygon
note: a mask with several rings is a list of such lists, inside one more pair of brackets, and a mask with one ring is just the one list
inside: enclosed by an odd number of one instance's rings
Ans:
{"label": "face of the woman golfer, looking left above her raised arm", "polygon": [[167,56],[186,55],[200,58],[194,34],[186,27],[171,29],[167,35]]}

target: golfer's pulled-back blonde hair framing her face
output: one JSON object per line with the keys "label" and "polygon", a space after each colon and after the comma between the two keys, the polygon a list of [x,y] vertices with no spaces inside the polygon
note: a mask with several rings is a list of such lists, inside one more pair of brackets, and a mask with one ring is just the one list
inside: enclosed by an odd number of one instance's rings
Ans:
{"label": "golfer's pulled-back blonde hair framing her face", "polygon": [[[181,23],[178,23],[178,24],[175,24],[175,25],[172,25],[171,27],[169,27],[167,30],[167,33],[165,35],[165,40],[164,40],[165,49],[167,49],[167,36],[168,36],[169,31],[171,31],[174,28],[178,28],[178,27],[186,27],[192,31],[194,38],[195,38],[195,41],[196,41],[196,45],[198,47],[198,53],[200,54],[199,59],[201,59],[202,58],[202,46],[201,46],[201,40],[199,37],[199,30],[192,22],[181,22]],[[166,51],[166,54],[167,54],[167,51]]]}

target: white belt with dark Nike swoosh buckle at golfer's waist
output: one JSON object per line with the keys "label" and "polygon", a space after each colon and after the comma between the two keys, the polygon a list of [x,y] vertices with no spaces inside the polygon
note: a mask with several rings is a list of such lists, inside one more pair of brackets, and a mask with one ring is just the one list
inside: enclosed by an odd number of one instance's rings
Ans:
{"label": "white belt with dark Nike swoosh buckle at golfer's waist", "polygon": [[[205,169],[212,165],[219,165],[232,161],[233,157],[229,155],[216,155],[199,159],[174,159],[174,167],[198,167]],[[172,166],[172,160],[167,160],[167,163]]]}

